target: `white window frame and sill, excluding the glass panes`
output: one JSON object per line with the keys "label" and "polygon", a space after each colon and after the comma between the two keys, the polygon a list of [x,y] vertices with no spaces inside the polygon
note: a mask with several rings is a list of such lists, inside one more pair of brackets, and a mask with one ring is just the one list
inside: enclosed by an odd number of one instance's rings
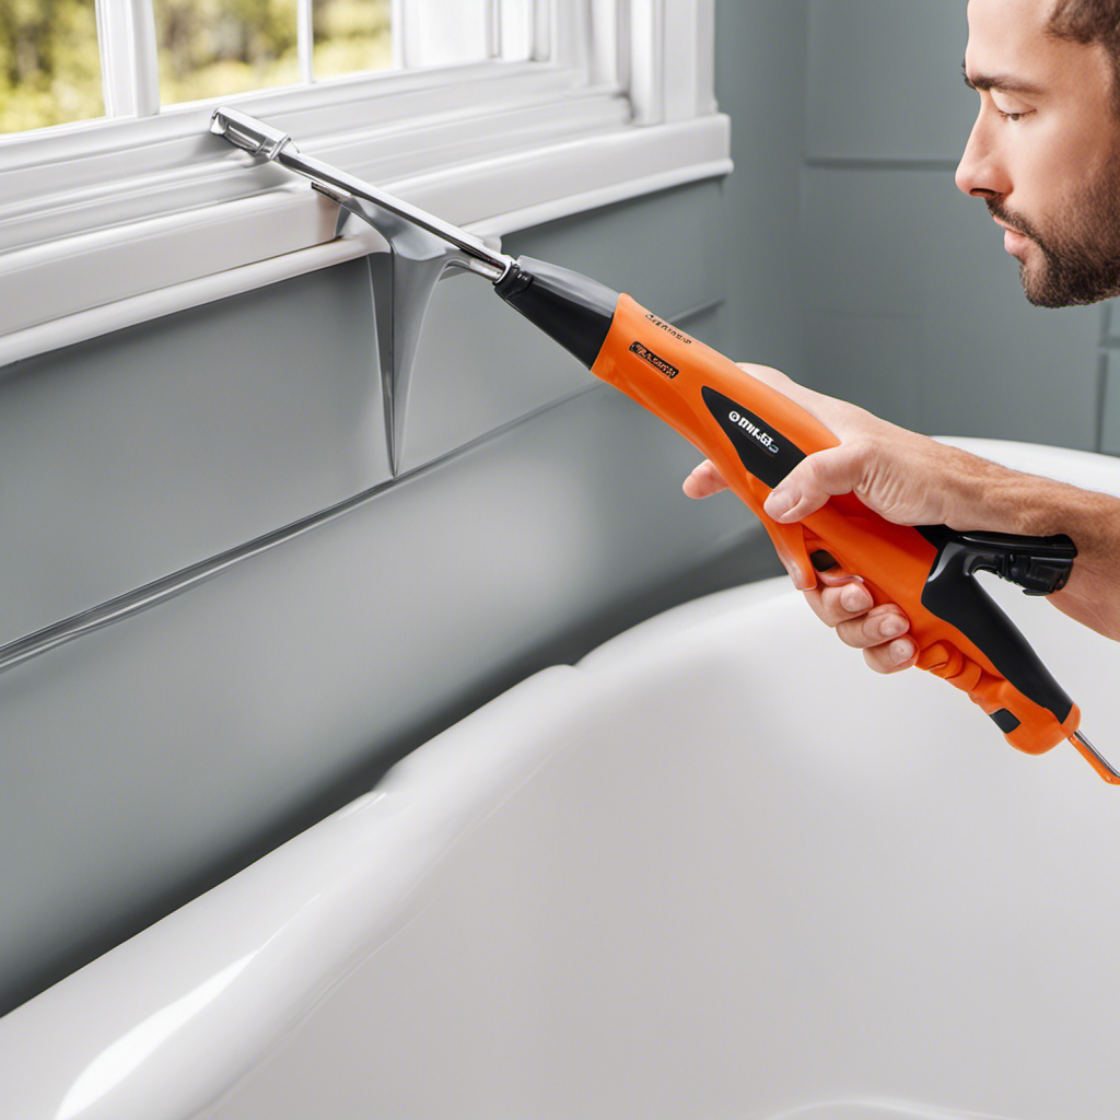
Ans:
{"label": "white window frame and sill, excluding the glass panes", "polygon": [[[730,170],[716,0],[534,2],[547,60],[222,100],[491,237]],[[115,115],[0,137],[0,365],[384,248],[335,240],[332,204],[212,138],[218,101],[156,115],[148,0],[102,3],[99,31],[129,63]]]}

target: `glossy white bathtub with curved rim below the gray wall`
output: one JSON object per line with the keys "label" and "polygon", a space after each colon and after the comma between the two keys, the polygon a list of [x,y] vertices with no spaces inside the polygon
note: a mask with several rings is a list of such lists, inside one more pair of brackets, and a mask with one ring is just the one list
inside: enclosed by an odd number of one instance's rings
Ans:
{"label": "glossy white bathtub with curved rim below the gray wall", "polygon": [[[1120,760],[1120,646],[997,594]],[[0,1019],[0,1117],[1117,1120],[1118,883],[1073,747],[774,580],[523,682]]]}

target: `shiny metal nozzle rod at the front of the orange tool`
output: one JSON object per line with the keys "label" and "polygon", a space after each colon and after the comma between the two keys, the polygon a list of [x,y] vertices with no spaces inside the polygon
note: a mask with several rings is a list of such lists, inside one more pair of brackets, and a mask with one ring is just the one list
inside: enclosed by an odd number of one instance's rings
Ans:
{"label": "shiny metal nozzle rod at the front of the orange tool", "polygon": [[[291,137],[287,132],[269,128],[255,116],[222,105],[214,111],[214,115],[211,118],[211,132],[224,137],[230,143],[244,148],[245,151],[250,151],[254,156],[263,156],[265,159],[288,168],[289,171],[302,175],[311,180],[312,186],[318,187],[323,194],[340,205],[345,205],[344,199],[347,196],[362,199],[411,222],[421,230],[427,230],[460,250],[470,261],[470,270],[485,276],[487,280],[496,283],[510,271],[513,264],[512,256],[507,256],[496,249],[491,249],[478,237],[464,233],[463,230],[449,222],[445,222],[433,214],[428,214],[400,198],[386,195],[376,187],[370,186],[368,183],[363,183],[353,175],[330,167],[329,164],[300,155],[299,149],[292,143]],[[353,212],[370,222],[371,225],[374,224],[365,208],[354,207]]]}

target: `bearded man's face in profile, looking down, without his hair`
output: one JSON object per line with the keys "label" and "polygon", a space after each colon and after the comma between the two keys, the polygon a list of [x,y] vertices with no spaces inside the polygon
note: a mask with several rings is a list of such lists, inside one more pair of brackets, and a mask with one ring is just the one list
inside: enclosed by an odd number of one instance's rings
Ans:
{"label": "bearded man's face in profile, looking down, without his hair", "polygon": [[956,185],[982,198],[1039,307],[1120,295],[1120,118],[1100,44],[1046,34],[1054,0],[969,0],[980,113]]}

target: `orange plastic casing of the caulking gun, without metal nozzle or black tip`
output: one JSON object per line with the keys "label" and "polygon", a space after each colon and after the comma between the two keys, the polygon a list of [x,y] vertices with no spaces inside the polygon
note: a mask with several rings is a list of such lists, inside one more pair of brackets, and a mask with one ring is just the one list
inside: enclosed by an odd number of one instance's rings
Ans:
{"label": "orange plastic casing of the caulking gun, without metal nozzle or black tip", "polygon": [[[853,495],[831,498],[782,525],[763,503],[806,455],[839,440],[790,398],[622,296],[592,372],[668,421],[708,456],[759,517],[803,589],[823,549],[858,572],[876,603],[911,618],[920,664],[961,688],[1020,750],[1040,754],[1070,737],[1080,712],[1009,618],[964,572],[936,572],[939,548]],[[948,530],[946,530],[948,532]],[[940,671],[939,671],[940,670]]]}

